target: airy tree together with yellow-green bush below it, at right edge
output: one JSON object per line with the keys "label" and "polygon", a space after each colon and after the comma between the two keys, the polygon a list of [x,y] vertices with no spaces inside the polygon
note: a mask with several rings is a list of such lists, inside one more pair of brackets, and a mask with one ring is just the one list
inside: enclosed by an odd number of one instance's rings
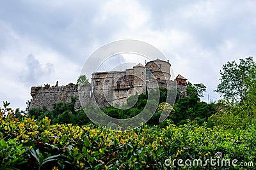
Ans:
{"label": "airy tree together with yellow-green bush below it, at right edge", "polygon": [[256,120],[256,62],[252,57],[224,64],[217,87],[225,99],[218,101],[219,111],[209,124],[219,128],[246,128]]}

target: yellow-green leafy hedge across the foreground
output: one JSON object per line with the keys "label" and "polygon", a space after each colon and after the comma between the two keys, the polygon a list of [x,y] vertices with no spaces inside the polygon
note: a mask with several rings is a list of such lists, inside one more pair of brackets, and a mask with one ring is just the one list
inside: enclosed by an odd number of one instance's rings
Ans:
{"label": "yellow-green leafy hedge across the foreground", "polygon": [[[143,125],[120,132],[95,125],[50,125],[47,117],[40,121],[28,117],[21,120],[12,114],[9,111],[8,117],[0,118],[2,169],[171,169],[164,164],[166,160],[204,161],[216,159],[217,152],[225,159],[237,159],[237,165],[256,161],[254,125],[223,130],[188,122],[179,127]],[[204,168],[213,167],[207,164]]]}

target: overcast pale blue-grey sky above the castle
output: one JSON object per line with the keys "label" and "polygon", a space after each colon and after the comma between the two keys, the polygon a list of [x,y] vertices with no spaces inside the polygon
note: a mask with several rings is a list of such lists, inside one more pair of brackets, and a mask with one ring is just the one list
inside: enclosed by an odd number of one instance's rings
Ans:
{"label": "overcast pale blue-grey sky above the castle", "polygon": [[255,7],[231,0],[0,0],[0,101],[24,109],[31,86],[76,83],[87,57],[119,39],[156,46],[176,76],[204,83],[205,96],[216,100],[223,64],[255,56]]}

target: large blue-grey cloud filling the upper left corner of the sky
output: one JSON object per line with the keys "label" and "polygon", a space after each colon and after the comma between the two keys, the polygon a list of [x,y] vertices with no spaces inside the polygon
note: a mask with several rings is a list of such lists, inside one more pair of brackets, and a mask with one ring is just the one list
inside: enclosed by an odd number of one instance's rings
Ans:
{"label": "large blue-grey cloud filling the upper left corner of the sky", "polygon": [[90,46],[94,42],[108,37],[100,34],[104,28],[93,24],[93,16],[99,10],[93,1],[19,1],[15,4],[6,1],[0,6],[0,20],[12,25],[14,32],[63,57],[75,55],[77,63],[83,62],[84,49],[93,50]]}

